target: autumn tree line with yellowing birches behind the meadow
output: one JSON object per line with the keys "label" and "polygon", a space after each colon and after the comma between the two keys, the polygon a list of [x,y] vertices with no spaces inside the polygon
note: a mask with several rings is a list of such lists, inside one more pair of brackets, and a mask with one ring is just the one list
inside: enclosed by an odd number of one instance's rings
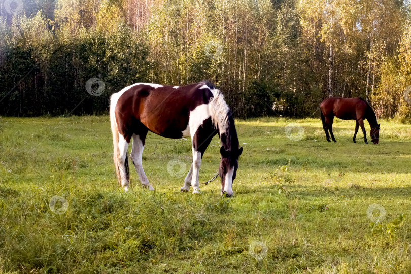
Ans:
{"label": "autumn tree line with yellowing birches behind the meadow", "polygon": [[237,117],[315,117],[326,97],[361,96],[380,117],[409,120],[408,4],[7,0],[0,114],[106,113],[110,95],[132,83],[208,79]]}

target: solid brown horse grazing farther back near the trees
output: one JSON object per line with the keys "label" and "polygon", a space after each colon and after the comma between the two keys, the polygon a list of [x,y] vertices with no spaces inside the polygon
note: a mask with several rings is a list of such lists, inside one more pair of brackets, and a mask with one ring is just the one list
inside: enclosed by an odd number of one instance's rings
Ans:
{"label": "solid brown horse grazing farther back near the trees", "polygon": [[357,121],[355,124],[355,132],[353,137],[354,143],[356,143],[355,138],[357,136],[358,127],[361,126],[362,132],[364,133],[365,144],[368,144],[364,128],[364,119],[367,119],[371,127],[371,131],[369,132],[371,141],[374,145],[378,144],[380,124],[377,124],[375,113],[372,108],[362,98],[330,97],[321,102],[320,108],[321,120],[323,122],[323,128],[328,142],[331,142],[330,136],[328,135],[328,130],[330,131],[332,141],[337,142],[335,141],[334,134],[332,133],[332,122],[335,116],[342,120]]}

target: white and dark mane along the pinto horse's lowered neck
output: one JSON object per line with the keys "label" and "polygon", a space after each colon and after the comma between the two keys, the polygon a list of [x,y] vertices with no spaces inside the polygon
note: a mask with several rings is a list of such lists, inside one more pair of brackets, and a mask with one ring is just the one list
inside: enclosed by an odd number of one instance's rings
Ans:
{"label": "white and dark mane along the pinto horse's lowered neck", "polygon": [[[239,142],[237,131],[235,130],[234,119],[230,108],[224,100],[223,93],[209,81],[202,81],[201,83],[207,85],[213,93],[214,98],[209,104],[210,116],[211,121],[220,132],[221,143],[227,146],[228,149],[238,149]],[[232,147],[232,145],[234,147]]]}

